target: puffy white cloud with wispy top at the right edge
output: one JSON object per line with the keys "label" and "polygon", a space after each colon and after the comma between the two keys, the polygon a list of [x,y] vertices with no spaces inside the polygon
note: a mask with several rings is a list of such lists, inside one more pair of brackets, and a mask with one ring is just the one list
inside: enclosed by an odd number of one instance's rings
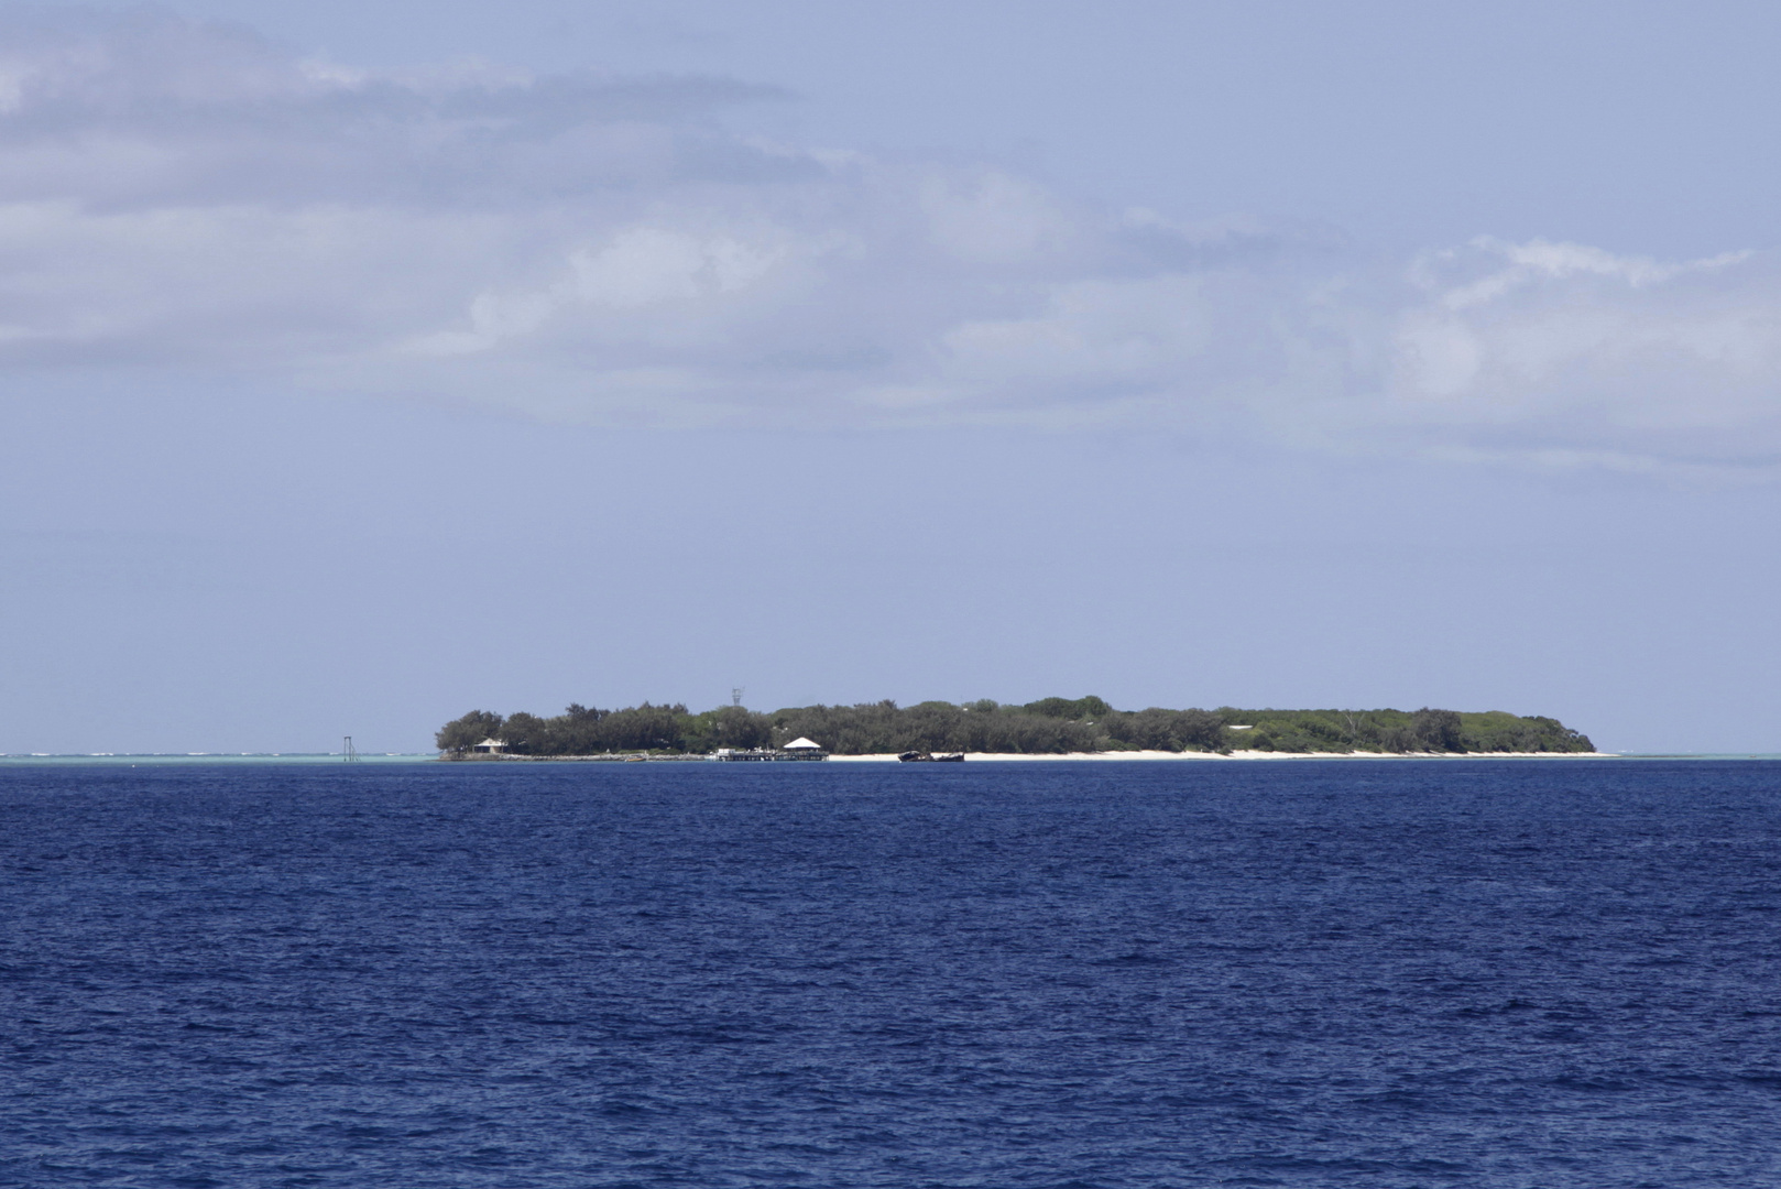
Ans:
{"label": "puffy white cloud with wispy top at the right edge", "polygon": [[[1398,316],[1391,390],[1425,426],[1496,449],[1769,465],[1781,449],[1781,276],[1749,253],[1656,264],[1498,244]],[[1469,440],[1476,447],[1478,440]]]}

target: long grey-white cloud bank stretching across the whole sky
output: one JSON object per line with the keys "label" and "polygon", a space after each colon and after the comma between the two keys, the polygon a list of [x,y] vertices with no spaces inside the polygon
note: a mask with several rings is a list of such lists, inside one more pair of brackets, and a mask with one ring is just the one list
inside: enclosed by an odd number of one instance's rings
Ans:
{"label": "long grey-white cloud bank stretching across the whole sky", "polygon": [[0,45],[14,380],[1781,471],[1769,255],[1380,260],[992,164],[760,143],[723,114],[787,96],[725,78],[379,75],[164,14],[9,16]]}

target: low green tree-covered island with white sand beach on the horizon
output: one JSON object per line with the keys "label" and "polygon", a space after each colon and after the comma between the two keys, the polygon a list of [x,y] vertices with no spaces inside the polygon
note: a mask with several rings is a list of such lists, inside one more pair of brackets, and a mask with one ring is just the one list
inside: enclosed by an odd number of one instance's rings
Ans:
{"label": "low green tree-covered island with white sand beach on the horizon", "polygon": [[981,702],[862,702],[796,706],[771,715],[743,706],[691,713],[643,702],[627,709],[570,706],[554,718],[476,709],[435,736],[447,756],[486,738],[518,756],[695,752],[778,747],[798,736],[837,756],[907,750],[1065,752],[1587,752],[1589,738],[1557,718],[1452,709],[1113,709],[1099,697],[1045,697],[1024,706]]}

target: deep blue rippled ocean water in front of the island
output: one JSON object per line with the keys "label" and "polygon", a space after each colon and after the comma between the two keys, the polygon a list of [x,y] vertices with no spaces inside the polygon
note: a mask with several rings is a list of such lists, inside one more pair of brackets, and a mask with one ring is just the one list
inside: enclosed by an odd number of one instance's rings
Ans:
{"label": "deep blue rippled ocean water in front of the island", "polygon": [[1781,1185],[1781,765],[0,767],[7,1185]]}

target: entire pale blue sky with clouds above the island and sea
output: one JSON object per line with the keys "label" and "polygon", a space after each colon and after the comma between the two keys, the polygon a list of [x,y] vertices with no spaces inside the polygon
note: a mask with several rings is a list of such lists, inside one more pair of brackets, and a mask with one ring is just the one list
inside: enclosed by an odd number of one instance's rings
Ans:
{"label": "entire pale blue sky with clouds above the island and sea", "polygon": [[1781,11],[0,4],[0,752],[1781,750]]}

